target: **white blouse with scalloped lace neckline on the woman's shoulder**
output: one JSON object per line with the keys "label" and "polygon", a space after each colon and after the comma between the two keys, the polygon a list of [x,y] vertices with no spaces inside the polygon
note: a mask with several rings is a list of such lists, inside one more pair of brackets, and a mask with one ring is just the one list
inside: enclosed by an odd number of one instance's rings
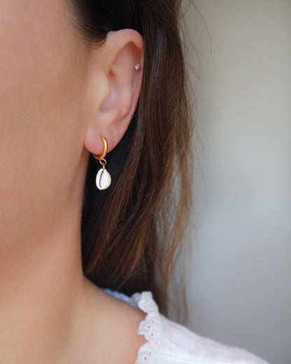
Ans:
{"label": "white blouse with scalloped lace neckline on the woman's shoulder", "polygon": [[107,288],[104,290],[147,314],[138,331],[147,342],[139,348],[136,364],[268,364],[249,351],[196,335],[159,314],[151,292],[128,297]]}

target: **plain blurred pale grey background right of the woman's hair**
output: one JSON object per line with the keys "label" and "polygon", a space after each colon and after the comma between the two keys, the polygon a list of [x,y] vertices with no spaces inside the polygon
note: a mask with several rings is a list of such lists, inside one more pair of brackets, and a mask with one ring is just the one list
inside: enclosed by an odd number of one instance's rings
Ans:
{"label": "plain blurred pale grey background right of the woman's hair", "polygon": [[290,364],[291,0],[194,2],[190,328]]}

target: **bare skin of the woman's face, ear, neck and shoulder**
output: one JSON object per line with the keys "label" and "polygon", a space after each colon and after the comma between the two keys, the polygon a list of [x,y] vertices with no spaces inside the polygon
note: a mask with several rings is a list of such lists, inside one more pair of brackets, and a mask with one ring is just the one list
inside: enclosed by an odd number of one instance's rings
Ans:
{"label": "bare skin of the woman's face, ear, neck and shoulder", "polygon": [[90,48],[66,1],[2,0],[0,42],[0,363],[134,363],[144,314],[83,275],[80,216],[90,153],[136,108],[143,40]]}

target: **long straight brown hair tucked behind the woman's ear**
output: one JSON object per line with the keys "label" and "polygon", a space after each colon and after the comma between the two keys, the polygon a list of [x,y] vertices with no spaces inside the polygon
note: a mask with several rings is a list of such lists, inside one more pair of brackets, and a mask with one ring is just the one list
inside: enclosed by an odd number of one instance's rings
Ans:
{"label": "long straight brown hair tucked behind the woman's ear", "polygon": [[84,274],[127,295],[151,290],[162,313],[191,206],[192,120],[180,40],[179,0],[69,0],[90,45],[111,30],[139,31],[145,44],[139,105],[108,154],[111,188],[94,184],[90,156],[82,218]]}

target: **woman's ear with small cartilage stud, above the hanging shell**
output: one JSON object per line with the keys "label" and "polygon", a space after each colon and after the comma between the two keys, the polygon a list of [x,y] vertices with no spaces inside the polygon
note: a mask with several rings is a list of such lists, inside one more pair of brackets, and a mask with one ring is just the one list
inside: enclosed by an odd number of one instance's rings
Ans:
{"label": "woman's ear with small cartilage stud, above the hanging shell", "polygon": [[129,126],[141,92],[143,38],[133,29],[110,31],[104,45],[90,48],[88,66],[88,123],[84,145],[101,154],[101,135],[108,152]]}

